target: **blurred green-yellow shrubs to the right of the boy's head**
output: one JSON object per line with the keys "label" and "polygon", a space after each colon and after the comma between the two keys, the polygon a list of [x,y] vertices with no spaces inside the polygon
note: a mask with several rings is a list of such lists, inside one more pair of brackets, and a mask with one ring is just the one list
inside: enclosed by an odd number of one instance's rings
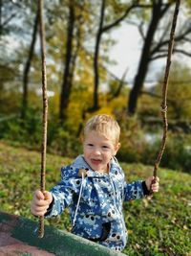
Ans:
{"label": "blurred green-yellow shrubs to the right of the boy's head", "polygon": [[[124,162],[141,162],[153,165],[159,154],[162,131],[143,130],[134,118],[123,119],[121,125],[121,149],[117,156]],[[160,166],[191,173],[191,136],[168,131],[165,151]]]}

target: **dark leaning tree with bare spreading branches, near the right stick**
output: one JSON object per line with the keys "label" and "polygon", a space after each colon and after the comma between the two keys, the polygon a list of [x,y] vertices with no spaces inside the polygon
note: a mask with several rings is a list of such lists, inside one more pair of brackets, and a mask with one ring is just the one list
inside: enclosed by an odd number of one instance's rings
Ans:
{"label": "dark leaning tree with bare spreading branches, near the right stick", "polygon": [[[130,115],[135,114],[137,105],[138,105],[138,97],[140,95],[140,91],[143,87],[143,82],[148,72],[148,67],[151,61],[157,58],[164,58],[167,56],[167,46],[169,36],[169,22],[165,23],[167,26],[163,26],[162,33],[158,36],[158,39],[155,40],[157,37],[157,32],[159,30],[159,24],[162,23],[162,18],[166,18],[166,14],[170,11],[170,7],[174,5],[174,2],[169,1],[165,3],[163,0],[153,1],[152,9],[151,9],[151,20],[147,29],[147,33],[144,36],[142,33],[142,29],[140,29],[142,38],[143,38],[143,47],[141,52],[141,57],[138,64],[138,73],[135,78],[133,88],[130,92],[129,99],[128,99],[128,113]],[[141,23],[142,24],[142,23]],[[176,47],[174,50],[175,52],[179,52],[184,55],[189,55],[188,52],[182,51],[178,48],[178,43],[183,43],[185,40],[188,40],[188,37],[191,35],[191,26],[190,21],[186,20],[185,24],[182,25],[180,28],[179,33],[177,33],[175,37]],[[155,37],[156,36],[156,37]]]}

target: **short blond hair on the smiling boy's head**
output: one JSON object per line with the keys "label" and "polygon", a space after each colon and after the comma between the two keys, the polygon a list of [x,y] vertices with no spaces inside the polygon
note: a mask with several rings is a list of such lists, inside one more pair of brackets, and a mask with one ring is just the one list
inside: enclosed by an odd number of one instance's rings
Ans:
{"label": "short blond hair on the smiling boy's head", "polygon": [[96,131],[112,140],[117,145],[120,135],[120,128],[117,121],[109,115],[100,114],[89,119],[84,128],[84,136],[90,131]]}

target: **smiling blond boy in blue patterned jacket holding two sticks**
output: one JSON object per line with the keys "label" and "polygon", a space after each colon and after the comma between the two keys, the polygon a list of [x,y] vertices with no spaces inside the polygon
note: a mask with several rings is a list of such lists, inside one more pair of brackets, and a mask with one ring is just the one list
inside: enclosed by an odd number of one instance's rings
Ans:
{"label": "smiling blond boy in blue patterned jacket holding two sticks", "polygon": [[159,178],[127,184],[115,155],[120,147],[120,128],[111,116],[96,115],[84,128],[83,155],[61,169],[61,182],[51,192],[35,191],[32,214],[53,217],[69,207],[72,232],[88,240],[122,250],[127,231],[123,201],[158,192]]}

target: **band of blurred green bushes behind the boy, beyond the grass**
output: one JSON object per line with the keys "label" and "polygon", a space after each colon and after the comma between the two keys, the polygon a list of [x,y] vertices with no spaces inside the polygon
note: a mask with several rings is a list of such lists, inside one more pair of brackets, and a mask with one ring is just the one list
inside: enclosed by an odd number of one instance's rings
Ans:
{"label": "band of blurred green bushes behind the boy, beyond the grass", "polygon": [[[10,141],[12,145],[22,145],[40,151],[42,121],[39,109],[30,109],[26,120],[19,117],[0,122],[0,138]],[[116,113],[121,128],[121,148],[117,152],[119,161],[154,165],[162,137],[162,128],[141,127],[136,117],[126,117],[123,111]],[[73,121],[74,122],[74,121]],[[59,155],[76,157],[82,153],[82,134],[76,134],[78,124],[60,124],[56,118],[48,122],[47,150]],[[162,167],[191,173],[191,135],[169,131],[165,153],[160,165]]]}

